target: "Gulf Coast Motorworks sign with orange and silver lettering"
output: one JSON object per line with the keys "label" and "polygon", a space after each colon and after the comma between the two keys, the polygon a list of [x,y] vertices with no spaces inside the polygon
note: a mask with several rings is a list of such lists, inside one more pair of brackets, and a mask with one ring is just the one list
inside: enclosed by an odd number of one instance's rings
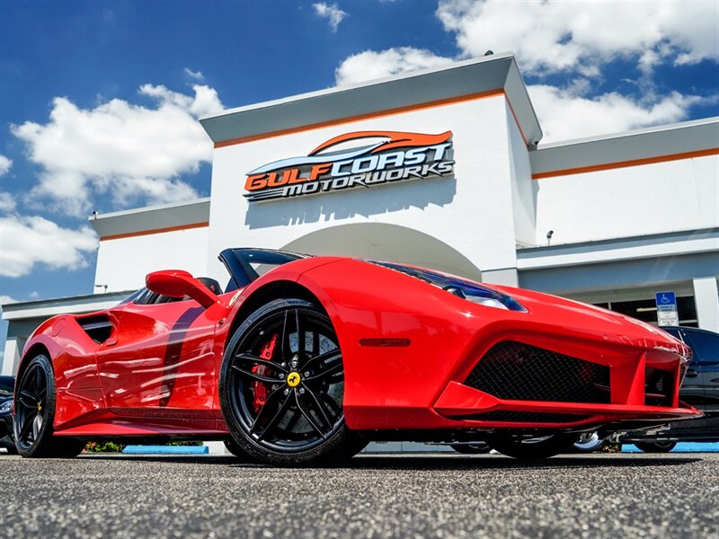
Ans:
{"label": "Gulf Coast Motorworks sign with orange and silver lettering", "polygon": [[356,131],[331,138],[309,155],[280,159],[247,173],[251,202],[370,188],[447,176],[454,170],[452,132],[439,135]]}

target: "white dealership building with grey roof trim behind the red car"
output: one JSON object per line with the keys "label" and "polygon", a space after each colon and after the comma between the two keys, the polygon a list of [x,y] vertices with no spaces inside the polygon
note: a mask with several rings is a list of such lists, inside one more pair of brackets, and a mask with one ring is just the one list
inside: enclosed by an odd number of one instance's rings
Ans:
{"label": "white dealership building with grey roof trim behind the red car", "polygon": [[653,323],[673,293],[679,323],[719,331],[719,119],[542,145],[498,54],[201,123],[210,197],[91,217],[87,288],[107,291],[4,305],[3,374],[50,315],[114,305],[152,270],[222,279],[232,246],[405,261]]}

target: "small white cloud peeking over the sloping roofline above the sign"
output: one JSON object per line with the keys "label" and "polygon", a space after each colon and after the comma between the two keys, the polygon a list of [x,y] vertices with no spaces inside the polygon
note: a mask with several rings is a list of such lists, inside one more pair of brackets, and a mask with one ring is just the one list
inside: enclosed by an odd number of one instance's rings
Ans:
{"label": "small white cloud peeking over the sloping roofline above the sign", "polygon": [[438,67],[452,62],[426,49],[398,47],[381,51],[365,50],[344,59],[334,71],[338,86],[399,75],[427,67]]}

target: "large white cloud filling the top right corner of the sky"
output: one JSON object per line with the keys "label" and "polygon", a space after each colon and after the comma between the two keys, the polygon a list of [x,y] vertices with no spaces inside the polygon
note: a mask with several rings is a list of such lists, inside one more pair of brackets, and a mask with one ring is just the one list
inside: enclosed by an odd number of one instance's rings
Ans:
{"label": "large white cloud filling the top right corner of the sky", "polygon": [[644,71],[661,62],[719,59],[715,1],[441,0],[437,16],[456,34],[463,57],[513,50],[528,74],[599,75],[599,66],[616,57],[633,57]]}

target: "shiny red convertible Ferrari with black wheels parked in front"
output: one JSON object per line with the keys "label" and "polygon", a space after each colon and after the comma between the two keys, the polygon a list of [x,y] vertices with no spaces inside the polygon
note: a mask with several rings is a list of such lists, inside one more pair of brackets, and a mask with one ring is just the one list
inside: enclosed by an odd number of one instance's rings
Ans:
{"label": "shiny red convertible Ferrari with black wheels parked in front", "polygon": [[40,325],[15,388],[20,454],[174,437],[277,465],[390,439],[542,457],[699,415],[679,402],[688,347],[620,314],[396,263],[219,258],[224,291],[157,271],[116,307]]}

